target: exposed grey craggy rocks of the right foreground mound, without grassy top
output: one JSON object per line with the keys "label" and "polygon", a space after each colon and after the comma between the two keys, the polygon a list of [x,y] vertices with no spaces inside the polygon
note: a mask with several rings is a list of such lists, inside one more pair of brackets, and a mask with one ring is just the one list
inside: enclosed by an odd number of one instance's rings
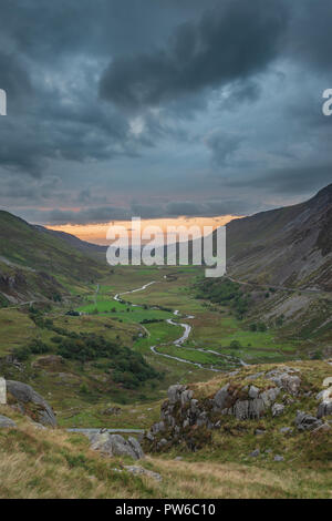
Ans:
{"label": "exposed grey craggy rocks of the right foreground mound, without grassy top", "polygon": [[[204,386],[201,386],[204,389]],[[317,407],[315,415],[298,410],[291,427],[282,427],[279,432],[287,435],[297,431],[330,430],[329,421],[323,417],[332,413],[331,400]],[[320,401],[322,395],[317,396]],[[152,451],[162,451],[172,446],[184,443],[190,450],[197,450],[211,440],[211,431],[227,423],[232,417],[238,421],[282,418],[290,407],[302,407],[303,399],[314,400],[301,370],[295,367],[279,366],[257,374],[232,374],[229,380],[217,391],[201,396],[187,386],[175,385],[168,389],[168,399],[162,405],[160,421],[154,423],[145,435],[144,443]],[[332,431],[332,429],[331,429]],[[256,429],[256,436],[264,435],[263,429]]]}

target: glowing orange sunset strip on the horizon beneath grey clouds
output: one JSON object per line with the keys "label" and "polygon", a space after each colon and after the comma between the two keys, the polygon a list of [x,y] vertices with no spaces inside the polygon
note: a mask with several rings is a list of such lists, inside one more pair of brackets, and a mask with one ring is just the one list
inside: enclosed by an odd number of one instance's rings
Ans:
{"label": "glowing orange sunset strip on the horizon beneath grey clouds", "polygon": [[[146,226],[159,226],[163,232],[166,232],[167,226],[211,226],[216,229],[218,226],[224,226],[234,218],[239,218],[235,215],[221,215],[216,217],[176,217],[176,218],[153,218],[153,219],[142,219],[142,231]],[[112,221],[110,223],[101,224],[66,224],[62,226],[46,226],[50,229],[56,229],[59,232],[65,232],[68,234],[75,235],[82,241],[87,241],[89,243],[108,245],[110,241],[106,239],[107,229],[111,225],[124,226],[128,234],[131,233],[131,221]]]}

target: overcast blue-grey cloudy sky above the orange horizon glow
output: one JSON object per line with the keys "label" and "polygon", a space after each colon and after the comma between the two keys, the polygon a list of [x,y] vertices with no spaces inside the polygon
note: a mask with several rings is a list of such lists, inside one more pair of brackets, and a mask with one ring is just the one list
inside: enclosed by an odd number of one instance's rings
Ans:
{"label": "overcast blue-grey cloudy sky above the orange horizon glow", "polygon": [[1,0],[0,206],[251,214],[332,182],[332,0]]}

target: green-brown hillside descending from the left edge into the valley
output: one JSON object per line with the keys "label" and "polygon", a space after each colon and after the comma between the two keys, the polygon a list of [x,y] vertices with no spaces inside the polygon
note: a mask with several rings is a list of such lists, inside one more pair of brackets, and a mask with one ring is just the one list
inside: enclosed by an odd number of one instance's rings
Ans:
{"label": "green-brown hillside descending from the left edge into the valley", "polygon": [[98,252],[75,237],[33,226],[0,211],[0,305],[37,298],[59,299],[106,273]]}

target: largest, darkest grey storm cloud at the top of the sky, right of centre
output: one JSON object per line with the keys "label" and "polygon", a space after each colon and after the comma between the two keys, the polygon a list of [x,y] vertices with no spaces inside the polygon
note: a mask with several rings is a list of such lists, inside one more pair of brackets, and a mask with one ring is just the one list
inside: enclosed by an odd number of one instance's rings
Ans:
{"label": "largest, darkest grey storm cloud at the top of the sky, right of centre", "polygon": [[101,96],[139,109],[206,88],[246,80],[278,55],[287,28],[283,2],[228,0],[184,23],[169,47],[115,58],[101,80]]}

